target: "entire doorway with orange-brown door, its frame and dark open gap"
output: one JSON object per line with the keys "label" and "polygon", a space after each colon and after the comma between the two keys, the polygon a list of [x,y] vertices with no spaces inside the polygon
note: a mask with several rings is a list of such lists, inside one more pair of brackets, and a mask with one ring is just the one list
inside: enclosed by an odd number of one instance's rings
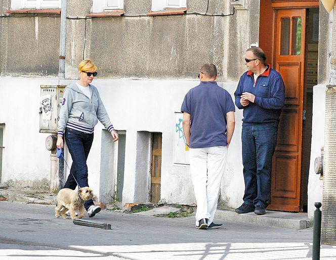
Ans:
{"label": "entire doorway with orange-brown door, its frame and dark open gap", "polygon": [[307,212],[318,8],[318,1],[260,1],[259,46],[285,83],[285,106],[272,162],[270,210]]}

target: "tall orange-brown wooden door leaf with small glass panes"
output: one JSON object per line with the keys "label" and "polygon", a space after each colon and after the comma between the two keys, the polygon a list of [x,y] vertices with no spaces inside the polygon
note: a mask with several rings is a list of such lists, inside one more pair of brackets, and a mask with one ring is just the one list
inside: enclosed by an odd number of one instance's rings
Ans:
{"label": "tall orange-brown wooden door leaf with small glass panes", "polygon": [[285,84],[268,209],[300,211],[306,9],[275,12],[274,67]]}

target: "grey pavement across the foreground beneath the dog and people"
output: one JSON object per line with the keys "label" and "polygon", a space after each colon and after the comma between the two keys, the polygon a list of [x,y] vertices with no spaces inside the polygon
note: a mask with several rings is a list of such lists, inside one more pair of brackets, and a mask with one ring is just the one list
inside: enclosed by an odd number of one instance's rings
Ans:
{"label": "grey pavement across the foreground beneath the dog and people", "polygon": [[[0,201],[0,241],[49,246],[60,249],[60,252],[77,250],[78,258],[80,252],[126,259],[312,257],[312,229],[293,230],[224,221],[222,229],[198,230],[194,227],[193,217],[169,219],[110,211],[102,211],[90,220],[110,223],[112,230],[77,226],[70,219],[56,219],[53,205]],[[0,259],[9,259],[9,256],[0,250]],[[322,246],[321,259],[335,257],[336,246]],[[72,257],[69,255],[67,259]]]}

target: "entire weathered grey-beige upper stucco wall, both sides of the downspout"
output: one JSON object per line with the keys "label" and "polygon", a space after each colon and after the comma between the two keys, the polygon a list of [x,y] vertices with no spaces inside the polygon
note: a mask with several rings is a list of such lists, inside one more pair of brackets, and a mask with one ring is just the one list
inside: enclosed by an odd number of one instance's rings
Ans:
{"label": "entire weathered grey-beige upper stucco wall, both sides of the downspout", "polygon": [[[0,2],[4,14],[10,1]],[[66,78],[75,79],[78,63],[91,58],[103,78],[192,79],[211,62],[221,81],[237,80],[244,71],[244,50],[258,41],[259,1],[248,3],[248,10],[234,10],[225,0],[208,7],[206,0],[190,0],[186,15],[144,17],[150,0],[125,0],[123,17],[85,19],[93,1],[69,0]],[[205,12],[227,16],[195,14]],[[60,17],[17,16],[0,20],[1,75],[56,76]]]}

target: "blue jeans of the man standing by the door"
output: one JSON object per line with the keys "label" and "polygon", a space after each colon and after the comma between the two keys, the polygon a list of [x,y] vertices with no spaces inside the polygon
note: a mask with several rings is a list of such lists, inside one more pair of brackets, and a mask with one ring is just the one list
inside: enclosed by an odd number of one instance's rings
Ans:
{"label": "blue jeans of the man standing by the door", "polygon": [[278,123],[243,125],[241,132],[244,203],[267,207]]}

